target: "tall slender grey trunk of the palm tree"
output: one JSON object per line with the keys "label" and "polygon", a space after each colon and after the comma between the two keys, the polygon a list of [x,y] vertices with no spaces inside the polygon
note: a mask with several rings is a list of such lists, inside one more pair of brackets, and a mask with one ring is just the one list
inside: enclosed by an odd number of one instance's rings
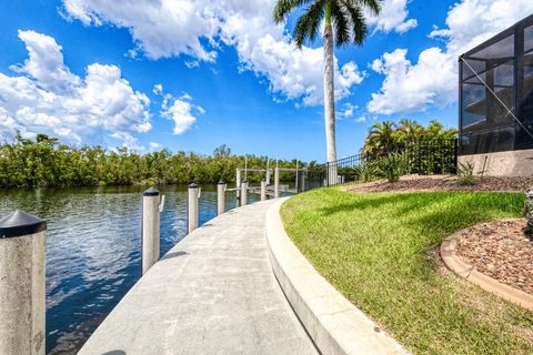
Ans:
{"label": "tall slender grey trunk of the palm tree", "polygon": [[324,123],[329,163],[329,184],[336,183],[335,148],[335,83],[333,61],[333,30],[331,27],[331,4],[325,6],[324,28]]}

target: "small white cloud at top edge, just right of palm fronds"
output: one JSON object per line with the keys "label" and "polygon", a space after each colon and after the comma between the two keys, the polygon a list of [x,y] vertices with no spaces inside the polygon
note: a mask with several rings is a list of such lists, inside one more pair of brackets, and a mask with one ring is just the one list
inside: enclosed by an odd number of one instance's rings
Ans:
{"label": "small white cloud at top edge, just right of palm fronds", "polygon": [[408,0],[385,0],[379,17],[366,16],[374,31],[404,33],[415,28],[416,19],[408,19]]}

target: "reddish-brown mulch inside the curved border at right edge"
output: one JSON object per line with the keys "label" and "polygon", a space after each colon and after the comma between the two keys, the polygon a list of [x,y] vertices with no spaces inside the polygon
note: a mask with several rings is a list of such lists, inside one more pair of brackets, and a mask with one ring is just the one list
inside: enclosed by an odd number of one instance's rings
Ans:
{"label": "reddish-brown mulch inside the curved border at right edge", "polygon": [[457,241],[457,255],[480,273],[533,295],[533,239],[525,220],[502,220],[470,227]]}

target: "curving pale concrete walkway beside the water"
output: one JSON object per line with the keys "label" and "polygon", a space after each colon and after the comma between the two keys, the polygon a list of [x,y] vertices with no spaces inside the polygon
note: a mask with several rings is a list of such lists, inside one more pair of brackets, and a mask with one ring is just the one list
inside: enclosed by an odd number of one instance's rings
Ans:
{"label": "curving pale concrete walkway beside the water", "polygon": [[227,212],[178,243],[79,354],[318,354],[272,273],[271,204]]}

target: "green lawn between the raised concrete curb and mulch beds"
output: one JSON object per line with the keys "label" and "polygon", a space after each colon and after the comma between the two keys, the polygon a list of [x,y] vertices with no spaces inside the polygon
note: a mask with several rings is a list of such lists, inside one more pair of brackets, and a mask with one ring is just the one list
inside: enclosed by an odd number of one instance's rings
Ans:
{"label": "green lawn between the raised concrete curb and mulch beds", "polygon": [[414,354],[532,354],[533,313],[454,276],[438,246],[519,216],[521,193],[315,190],[282,206],[288,234],[353,304]]}

